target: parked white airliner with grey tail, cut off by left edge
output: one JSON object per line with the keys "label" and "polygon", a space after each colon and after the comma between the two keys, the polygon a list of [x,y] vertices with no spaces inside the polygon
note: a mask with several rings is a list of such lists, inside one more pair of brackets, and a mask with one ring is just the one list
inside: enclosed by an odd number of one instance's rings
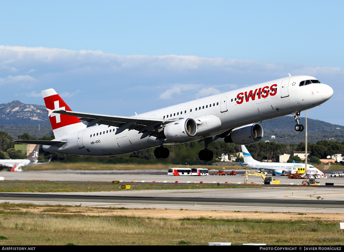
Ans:
{"label": "parked white airliner with grey tail, cut off by left edge", "polygon": [[25,159],[1,159],[0,170],[7,169],[8,171],[22,171],[22,168],[24,167],[36,165],[38,161],[39,147],[39,145],[36,145],[29,157]]}

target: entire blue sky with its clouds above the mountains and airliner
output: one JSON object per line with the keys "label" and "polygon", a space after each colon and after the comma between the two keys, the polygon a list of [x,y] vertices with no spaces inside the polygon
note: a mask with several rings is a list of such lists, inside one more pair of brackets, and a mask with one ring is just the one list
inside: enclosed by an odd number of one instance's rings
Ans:
{"label": "entire blue sky with its clouds above the mountains and airliner", "polygon": [[[334,89],[308,116],[344,125],[341,1],[2,1],[0,103],[133,115],[280,77]],[[341,109],[341,108],[338,108]]]}

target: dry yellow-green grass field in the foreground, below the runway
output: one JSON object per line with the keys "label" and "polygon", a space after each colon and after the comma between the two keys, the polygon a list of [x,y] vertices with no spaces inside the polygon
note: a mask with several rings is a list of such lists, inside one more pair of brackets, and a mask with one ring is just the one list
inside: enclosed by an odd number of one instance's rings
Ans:
{"label": "dry yellow-green grass field in the foreground, below the runway", "polygon": [[[0,245],[206,245],[207,242],[266,243],[267,245],[341,245],[340,216],[266,213],[271,218],[216,218],[216,212],[195,217],[196,211],[179,211],[181,218],[157,218],[154,211],[126,208],[85,208],[0,203]],[[140,216],[140,211],[151,214]],[[256,211],[257,212],[257,211]],[[213,216],[213,214],[214,216]],[[251,212],[254,216],[258,212]],[[283,217],[283,214],[285,217]],[[187,217],[189,215],[189,217]],[[248,214],[245,213],[244,216]],[[146,215],[147,216],[147,215]],[[319,214],[320,216],[320,214]]]}

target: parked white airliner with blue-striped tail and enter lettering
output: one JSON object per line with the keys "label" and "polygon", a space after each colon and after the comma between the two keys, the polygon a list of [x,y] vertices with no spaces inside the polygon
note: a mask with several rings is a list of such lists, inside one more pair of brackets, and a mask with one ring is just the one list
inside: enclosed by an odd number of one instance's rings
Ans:
{"label": "parked white airliner with blue-striped tail and enter lettering", "polygon": [[[262,172],[271,172],[272,176],[281,175],[284,176],[291,173],[292,168],[305,168],[306,164],[302,163],[275,163],[275,162],[259,162],[252,158],[245,145],[241,145],[243,151],[244,163],[240,165],[243,167],[257,169]],[[307,171],[312,171],[318,178],[324,178],[325,174],[318,168],[307,164]]]}

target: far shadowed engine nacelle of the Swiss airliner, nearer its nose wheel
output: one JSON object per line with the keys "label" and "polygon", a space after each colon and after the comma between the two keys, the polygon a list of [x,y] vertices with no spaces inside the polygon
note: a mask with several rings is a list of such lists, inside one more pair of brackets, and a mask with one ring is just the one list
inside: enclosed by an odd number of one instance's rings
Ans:
{"label": "far shadowed engine nacelle of the Swiss airliner, nearer its nose wheel", "polygon": [[229,136],[225,137],[226,143],[253,144],[263,138],[263,128],[259,123],[245,125],[234,129]]}

